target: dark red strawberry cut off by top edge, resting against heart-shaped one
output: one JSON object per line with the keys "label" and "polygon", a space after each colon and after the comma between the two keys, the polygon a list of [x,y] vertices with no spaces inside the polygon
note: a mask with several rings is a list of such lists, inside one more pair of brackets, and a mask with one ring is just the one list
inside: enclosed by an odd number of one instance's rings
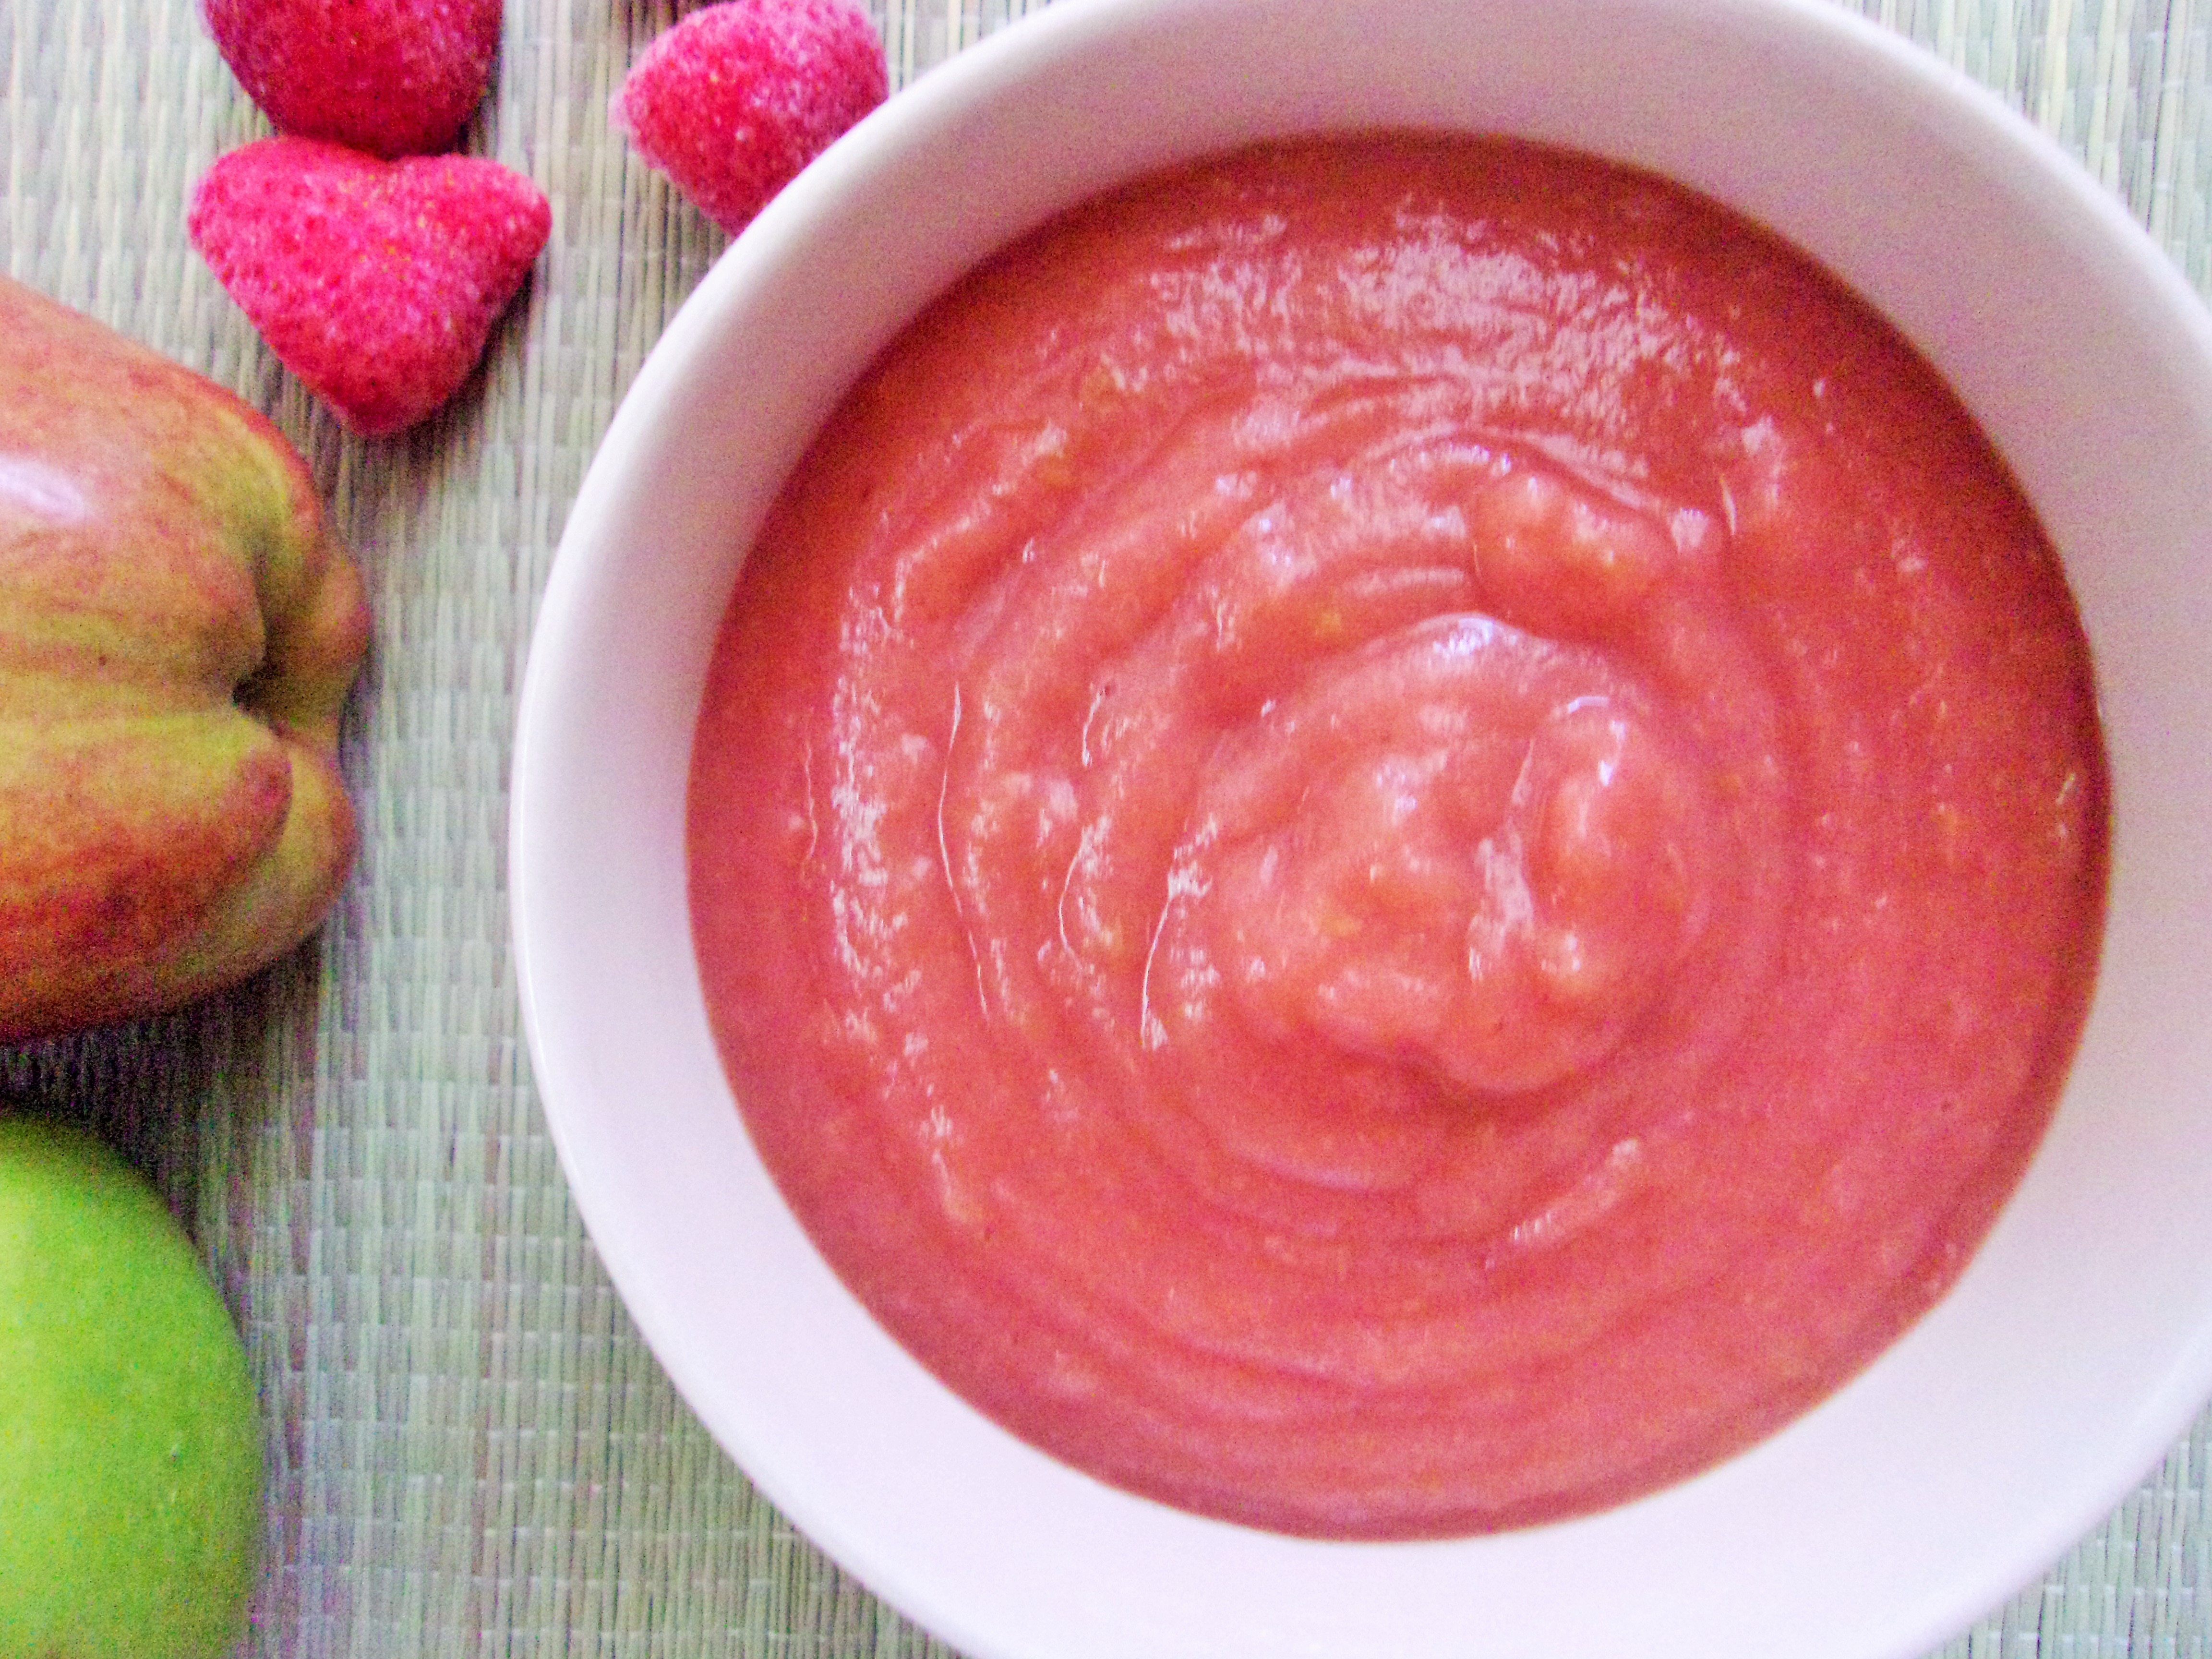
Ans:
{"label": "dark red strawberry cut off by top edge, resting against heart-shaped one", "polygon": [[283,133],[372,155],[447,148],[484,102],[502,0],[201,0]]}

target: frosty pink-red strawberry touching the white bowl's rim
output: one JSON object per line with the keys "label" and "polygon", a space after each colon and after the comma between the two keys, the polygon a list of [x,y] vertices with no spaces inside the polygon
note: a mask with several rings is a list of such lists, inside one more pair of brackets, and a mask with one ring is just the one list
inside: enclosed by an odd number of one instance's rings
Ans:
{"label": "frosty pink-red strawberry touching the white bowl's rim", "polygon": [[887,84],[876,31],[845,0],[726,0],[646,46],[613,115],[734,237]]}

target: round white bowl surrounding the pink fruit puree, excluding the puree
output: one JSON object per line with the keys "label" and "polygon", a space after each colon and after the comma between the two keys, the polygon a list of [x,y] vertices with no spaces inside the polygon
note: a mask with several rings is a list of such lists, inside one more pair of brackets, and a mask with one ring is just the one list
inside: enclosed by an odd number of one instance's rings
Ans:
{"label": "round white bowl surrounding the pink fruit puree, excluding the puree", "polygon": [[[1197,1520],[1013,1440],[830,1274],[701,1004],[684,790],[741,549],[925,299],[1172,159],[1343,126],[1511,133],[1765,221],[1949,376],[2062,549],[2115,832],[2055,1124],[1933,1314],[1641,1502],[1495,1537]],[[730,248],[653,352],[546,588],[513,776],[538,1084],[686,1400],[869,1586],[991,1657],[1909,1659],[2093,1526],[2212,1394],[2212,319],[2055,146],[1816,0],[1071,0],[927,75]]]}

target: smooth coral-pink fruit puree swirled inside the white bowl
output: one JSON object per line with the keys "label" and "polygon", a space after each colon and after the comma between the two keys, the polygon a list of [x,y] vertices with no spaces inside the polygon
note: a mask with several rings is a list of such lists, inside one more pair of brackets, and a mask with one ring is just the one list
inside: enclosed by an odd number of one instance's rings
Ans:
{"label": "smooth coral-pink fruit puree swirled inside the white bowl", "polygon": [[940,299],[692,761],[737,1097],[975,1407],[1332,1537],[1615,1504],[1836,1389],[2042,1133],[2088,653],[1973,422],[1650,177],[1267,146]]}

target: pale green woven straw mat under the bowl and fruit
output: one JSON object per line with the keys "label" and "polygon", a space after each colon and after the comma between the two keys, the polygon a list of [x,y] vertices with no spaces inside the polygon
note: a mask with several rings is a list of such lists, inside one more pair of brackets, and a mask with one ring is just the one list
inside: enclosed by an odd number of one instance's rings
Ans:
{"label": "pale green woven straw mat under the bowl and fruit", "polygon": [[[872,0],[894,86],[1037,2]],[[538,179],[553,239],[462,398],[365,445],[186,243],[192,179],[265,131],[192,0],[0,0],[0,268],[268,409],[376,602],[345,728],[361,869],[321,942],[190,1013],[0,1051],[0,1091],[161,1181],[246,1329],[272,1475],[254,1655],[945,1655],[675,1398],[522,1051],[504,818],[531,615],[615,400],[721,248],[606,124],[675,9],[507,2],[469,144]],[[1860,9],[2042,122],[2212,292],[2212,0]],[[2212,1655],[2208,1464],[2212,1413],[1944,1659]]]}

